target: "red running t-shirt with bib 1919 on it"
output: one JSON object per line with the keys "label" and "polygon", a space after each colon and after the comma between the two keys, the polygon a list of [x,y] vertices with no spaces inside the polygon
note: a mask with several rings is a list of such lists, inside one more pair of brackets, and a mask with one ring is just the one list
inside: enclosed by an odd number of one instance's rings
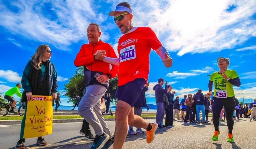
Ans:
{"label": "red running t-shirt with bib 1919 on it", "polygon": [[147,82],[150,50],[161,46],[155,32],[149,27],[137,27],[131,33],[124,34],[117,46],[120,59],[117,86],[136,78],[144,78]]}

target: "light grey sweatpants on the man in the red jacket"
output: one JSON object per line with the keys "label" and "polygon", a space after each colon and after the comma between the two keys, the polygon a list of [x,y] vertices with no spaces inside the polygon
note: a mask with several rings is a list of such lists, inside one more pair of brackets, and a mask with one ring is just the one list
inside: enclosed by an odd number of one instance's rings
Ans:
{"label": "light grey sweatpants on the man in the red jacket", "polygon": [[107,88],[101,85],[87,86],[78,106],[78,114],[92,126],[98,136],[102,135],[103,131],[108,135],[111,133],[100,109],[100,99],[106,91]]}

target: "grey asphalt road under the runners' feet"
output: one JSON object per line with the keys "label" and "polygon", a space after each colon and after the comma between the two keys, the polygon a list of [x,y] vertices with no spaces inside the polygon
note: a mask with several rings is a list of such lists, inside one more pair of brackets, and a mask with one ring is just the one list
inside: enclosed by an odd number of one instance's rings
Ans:
{"label": "grey asphalt road under the runners' feet", "polygon": [[[154,120],[147,120],[153,122]],[[112,132],[115,129],[115,121],[108,121]],[[64,148],[80,149],[90,148],[92,141],[83,139],[79,134],[82,123],[56,123],[53,124],[53,133],[44,136],[49,145],[36,146],[37,138],[28,138],[25,141],[26,148]],[[146,143],[146,134],[132,135],[126,138],[124,149],[171,149],[171,148],[255,148],[256,121],[249,122],[247,118],[236,121],[233,129],[235,143],[228,143],[228,128],[226,122],[220,123],[219,141],[212,141],[214,127],[209,124],[184,124],[182,121],[174,121],[175,127],[156,130],[156,138],[151,144]],[[14,148],[20,135],[20,125],[0,126],[0,148]],[[94,133],[94,132],[93,132]]]}

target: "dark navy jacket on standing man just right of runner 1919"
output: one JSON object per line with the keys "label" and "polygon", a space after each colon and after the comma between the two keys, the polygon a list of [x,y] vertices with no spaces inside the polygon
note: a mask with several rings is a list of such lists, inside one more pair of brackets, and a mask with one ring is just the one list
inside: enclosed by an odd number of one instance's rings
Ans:
{"label": "dark navy jacket on standing man just right of runner 1919", "polygon": [[167,93],[167,89],[168,89],[168,86],[165,86],[165,89],[164,89],[159,84],[153,87],[153,90],[155,91],[155,96],[156,96],[156,103],[165,101],[165,95]]}

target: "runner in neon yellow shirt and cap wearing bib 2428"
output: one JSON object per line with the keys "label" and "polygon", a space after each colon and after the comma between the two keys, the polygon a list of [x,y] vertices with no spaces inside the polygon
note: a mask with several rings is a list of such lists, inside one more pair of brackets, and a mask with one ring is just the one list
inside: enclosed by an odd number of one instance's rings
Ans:
{"label": "runner in neon yellow shirt and cap wearing bib 2428", "polygon": [[219,122],[220,111],[224,106],[227,126],[228,126],[228,142],[234,142],[232,130],[234,126],[234,120],[232,118],[238,101],[235,99],[234,86],[240,86],[240,79],[234,70],[228,70],[229,59],[219,57],[217,59],[218,67],[220,71],[212,73],[209,80],[209,91],[212,94],[212,84],[214,83],[214,94],[212,98],[212,121],[215,131],[212,136],[213,141],[218,141],[220,134]]}

